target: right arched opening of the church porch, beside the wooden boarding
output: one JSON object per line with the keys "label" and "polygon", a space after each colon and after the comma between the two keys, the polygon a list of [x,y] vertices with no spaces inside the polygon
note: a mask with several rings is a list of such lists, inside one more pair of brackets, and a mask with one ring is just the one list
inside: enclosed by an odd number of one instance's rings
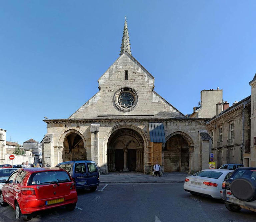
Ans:
{"label": "right arched opening of the church porch, beside the wooden boarding", "polygon": [[[184,134],[184,133],[183,133]],[[189,137],[180,133],[170,135],[164,147],[164,171],[189,171],[189,146],[193,143]]]}

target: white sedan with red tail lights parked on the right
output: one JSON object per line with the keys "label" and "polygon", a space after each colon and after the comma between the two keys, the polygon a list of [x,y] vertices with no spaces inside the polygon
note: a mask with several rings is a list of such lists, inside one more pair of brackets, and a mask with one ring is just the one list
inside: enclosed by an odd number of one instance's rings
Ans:
{"label": "white sedan with red tail lights parked on the right", "polygon": [[222,182],[227,179],[233,170],[204,169],[192,176],[187,176],[184,190],[191,194],[221,199],[220,189]]}

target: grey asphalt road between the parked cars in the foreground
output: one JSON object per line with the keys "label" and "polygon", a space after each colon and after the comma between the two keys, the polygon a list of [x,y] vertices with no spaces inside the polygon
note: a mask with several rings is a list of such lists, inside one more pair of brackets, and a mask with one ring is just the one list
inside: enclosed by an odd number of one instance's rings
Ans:
{"label": "grey asphalt road between the parked cars in the foreground", "polygon": [[[183,184],[101,184],[98,191],[80,191],[77,207],[46,211],[31,222],[76,221],[255,221],[256,213],[228,211],[219,200],[194,196]],[[0,206],[0,221],[15,221],[14,210]]]}

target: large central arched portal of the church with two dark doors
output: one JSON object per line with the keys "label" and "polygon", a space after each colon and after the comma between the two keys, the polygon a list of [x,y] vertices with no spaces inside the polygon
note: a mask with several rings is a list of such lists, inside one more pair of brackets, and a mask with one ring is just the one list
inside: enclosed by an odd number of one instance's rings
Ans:
{"label": "large central arched portal of the church with two dark doors", "polygon": [[114,131],[107,144],[108,171],[143,171],[144,142],[136,130]]}

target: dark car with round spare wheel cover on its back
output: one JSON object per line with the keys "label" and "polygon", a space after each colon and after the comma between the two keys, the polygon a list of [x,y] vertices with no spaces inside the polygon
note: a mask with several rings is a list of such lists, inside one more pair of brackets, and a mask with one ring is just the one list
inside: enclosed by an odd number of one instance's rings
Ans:
{"label": "dark car with round spare wheel cover on its back", "polygon": [[223,181],[220,195],[230,211],[245,208],[256,212],[256,168],[237,168]]}

